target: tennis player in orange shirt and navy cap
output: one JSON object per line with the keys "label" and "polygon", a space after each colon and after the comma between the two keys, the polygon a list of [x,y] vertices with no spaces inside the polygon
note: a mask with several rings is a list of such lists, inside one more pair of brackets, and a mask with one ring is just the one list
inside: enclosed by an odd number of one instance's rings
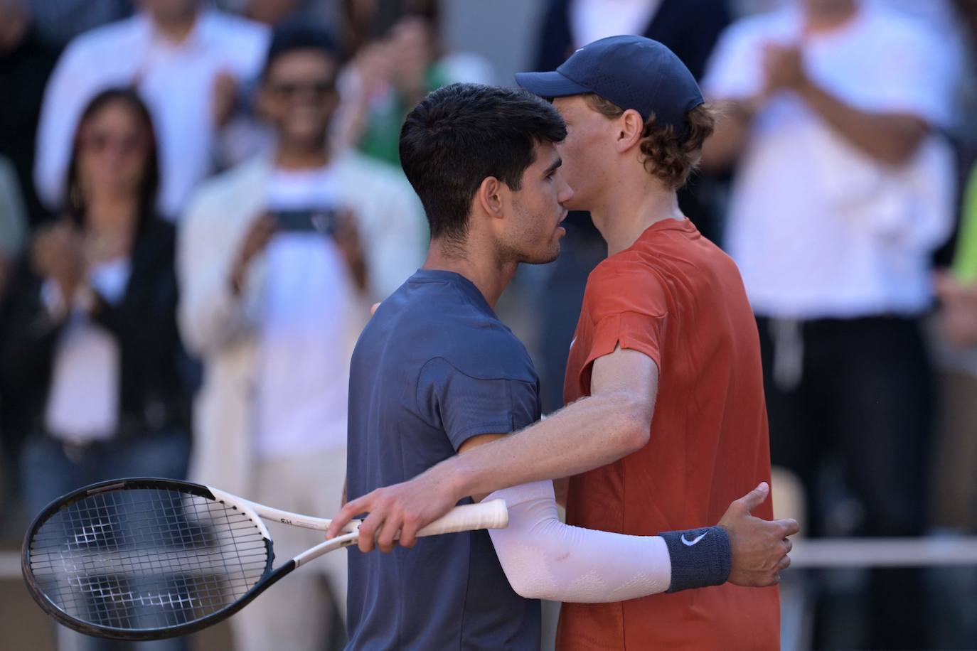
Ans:
{"label": "tennis player in orange shirt and navy cap", "polygon": [[[383,528],[382,544],[400,530],[410,545],[417,528],[464,496],[567,475],[574,475],[571,524],[654,536],[716,522],[732,501],[769,481],[770,458],[759,341],[739,271],[701,237],[676,199],[714,117],[685,65],[641,37],[602,39],[557,71],[524,73],[517,81],[555,98],[568,126],[558,144],[574,190],[566,207],[589,210],[608,242],[609,258],[588,280],[570,351],[565,397],[573,404],[362,496],[334,524],[369,511],[367,534]],[[645,434],[623,456],[609,455],[609,465],[590,469],[596,458],[590,447],[608,446],[614,437],[609,430],[602,439],[589,413],[601,413],[611,400],[621,400],[627,416],[616,425],[634,421]],[[769,501],[754,512],[772,517]],[[795,531],[792,524],[782,533]],[[675,537],[668,545],[697,543]],[[777,588],[731,583],[565,604],[558,632],[561,649],[779,643]]]}

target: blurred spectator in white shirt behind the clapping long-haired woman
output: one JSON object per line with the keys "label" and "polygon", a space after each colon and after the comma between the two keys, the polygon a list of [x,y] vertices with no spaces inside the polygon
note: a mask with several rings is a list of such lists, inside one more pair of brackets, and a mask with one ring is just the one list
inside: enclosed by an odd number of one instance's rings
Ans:
{"label": "blurred spectator in white shirt behind the clapping long-haired woman", "polygon": [[159,209],[174,219],[213,170],[215,134],[234,110],[237,87],[255,77],[268,46],[263,25],[202,0],[141,0],[134,17],[72,41],[45,94],[34,180],[49,207],[64,197],[70,135],[78,114],[109,86],[134,85],[159,136]]}

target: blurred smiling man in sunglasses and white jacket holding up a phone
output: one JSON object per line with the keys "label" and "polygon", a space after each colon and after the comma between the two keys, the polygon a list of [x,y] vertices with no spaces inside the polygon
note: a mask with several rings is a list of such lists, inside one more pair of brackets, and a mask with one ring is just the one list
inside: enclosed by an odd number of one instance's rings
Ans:
{"label": "blurred smiling man in sunglasses and white jacket holding up a phone", "polygon": [[[425,223],[396,170],[329,145],[338,72],[325,32],[276,28],[257,102],[275,150],[200,187],[178,254],[181,330],[204,363],[191,475],[323,517],[343,492],[353,346],[369,305],[421,264]],[[281,529],[279,553],[321,540]],[[316,567],[345,618],[345,552]],[[235,648],[323,648],[321,575],[296,579],[232,620]]]}

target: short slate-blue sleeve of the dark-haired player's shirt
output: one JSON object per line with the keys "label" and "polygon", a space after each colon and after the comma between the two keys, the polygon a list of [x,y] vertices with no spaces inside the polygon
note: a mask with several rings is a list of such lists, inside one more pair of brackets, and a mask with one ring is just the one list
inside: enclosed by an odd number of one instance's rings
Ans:
{"label": "short slate-blue sleeve of the dark-haired player's shirt", "polygon": [[418,403],[425,420],[445,430],[455,451],[472,436],[509,433],[539,419],[537,382],[476,377],[442,357],[422,369]]}

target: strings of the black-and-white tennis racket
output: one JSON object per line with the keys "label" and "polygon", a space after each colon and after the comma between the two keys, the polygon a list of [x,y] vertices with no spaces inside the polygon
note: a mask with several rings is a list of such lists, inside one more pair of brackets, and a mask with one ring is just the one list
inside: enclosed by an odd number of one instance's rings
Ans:
{"label": "strings of the black-and-white tennis racket", "polygon": [[35,584],[59,609],[130,631],[217,612],[269,565],[265,538],[247,515],[160,488],[85,497],[45,521],[29,549]]}

